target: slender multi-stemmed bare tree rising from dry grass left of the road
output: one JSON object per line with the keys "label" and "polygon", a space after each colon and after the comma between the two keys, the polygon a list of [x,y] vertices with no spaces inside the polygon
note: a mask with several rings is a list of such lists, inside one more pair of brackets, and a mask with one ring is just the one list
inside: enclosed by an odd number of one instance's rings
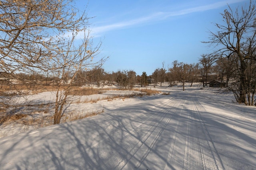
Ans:
{"label": "slender multi-stemmed bare tree rising from dry grass left of the road", "polygon": [[[60,123],[60,119],[63,115],[63,108],[65,104],[73,100],[73,96],[69,96],[72,85],[76,84],[76,76],[81,70],[98,69],[104,62],[104,59],[95,61],[93,58],[98,54],[98,47],[92,48],[92,41],[89,35],[86,35],[84,39],[79,40],[79,45],[76,43],[76,34],[72,37],[59,39],[62,42],[62,46],[57,49],[52,49],[52,61],[48,63],[48,72],[50,75],[58,77],[58,80],[52,83],[52,86],[56,88],[56,101],[55,101],[55,113],[54,124]],[[55,52],[55,53],[54,53]],[[95,72],[95,74],[100,74]],[[98,78],[97,78],[98,80]]]}

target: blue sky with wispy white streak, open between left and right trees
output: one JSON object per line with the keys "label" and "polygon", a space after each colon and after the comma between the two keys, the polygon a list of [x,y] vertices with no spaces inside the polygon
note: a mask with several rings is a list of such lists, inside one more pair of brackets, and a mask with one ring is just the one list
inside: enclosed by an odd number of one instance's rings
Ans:
{"label": "blue sky with wispy white streak, open between left and right trees", "polygon": [[[249,4],[249,0],[80,0],[91,23],[94,43],[102,41],[100,56],[109,56],[106,72],[134,70],[152,74],[172,62],[198,63],[213,49],[208,31],[217,30],[225,9]],[[86,7],[87,6],[87,7]]]}

